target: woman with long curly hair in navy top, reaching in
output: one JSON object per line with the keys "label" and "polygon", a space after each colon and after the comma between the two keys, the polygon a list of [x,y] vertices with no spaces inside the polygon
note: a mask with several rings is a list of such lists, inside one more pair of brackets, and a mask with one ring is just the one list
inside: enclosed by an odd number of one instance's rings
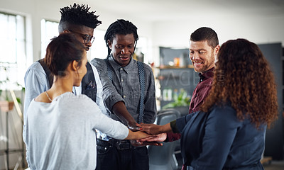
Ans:
{"label": "woman with long curly hair in navy top, reaching in", "polygon": [[220,47],[201,112],[163,126],[141,125],[141,130],[182,132],[187,169],[263,169],[266,128],[278,114],[276,93],[273,72],[258,46],[229,40]]}

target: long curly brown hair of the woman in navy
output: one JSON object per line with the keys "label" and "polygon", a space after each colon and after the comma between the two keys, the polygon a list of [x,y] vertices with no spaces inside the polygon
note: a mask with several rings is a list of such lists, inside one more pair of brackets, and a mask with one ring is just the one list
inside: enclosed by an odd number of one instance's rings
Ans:
{"label": "long curly brown hair of the woman in navy", "polygon": [[278,118],[273,72],[259,47],[245,39],[229,40],[220,47],[212,89],[200,110],[231,103],[239,120],[250,118],[259,128]]}

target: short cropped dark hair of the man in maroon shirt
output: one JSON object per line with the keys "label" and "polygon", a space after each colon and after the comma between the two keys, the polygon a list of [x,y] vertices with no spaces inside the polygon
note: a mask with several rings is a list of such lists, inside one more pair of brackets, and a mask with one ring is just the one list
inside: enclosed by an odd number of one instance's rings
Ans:
{"label": "short cropped dark hair of the man in maroon shirt", "polygon": [[208,45],[213,49],[219,45],[217,33],[212,28],[202,27],[195,30],[190,35],[191,41],[207,41]]}

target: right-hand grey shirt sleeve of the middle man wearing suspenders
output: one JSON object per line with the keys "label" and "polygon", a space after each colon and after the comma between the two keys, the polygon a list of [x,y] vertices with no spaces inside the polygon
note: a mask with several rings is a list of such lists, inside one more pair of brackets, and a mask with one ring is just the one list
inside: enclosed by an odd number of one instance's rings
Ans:
{"label": "right-hand grey shirt sleeve of the middle man wearing suspenders", "polygon": [[[144,64],[146,78],[146,97],[144,100],[144,123],[154,123],[157,116],[157,108],[155,102],[155,79],[151,67]],[[147,88],[148,87],[148,88]]]}

